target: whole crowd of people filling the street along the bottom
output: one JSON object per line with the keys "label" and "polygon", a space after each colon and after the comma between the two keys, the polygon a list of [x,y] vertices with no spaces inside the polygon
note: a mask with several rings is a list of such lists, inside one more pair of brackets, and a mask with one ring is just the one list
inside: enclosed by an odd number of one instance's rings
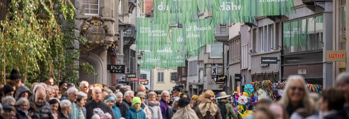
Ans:
{"label": "whole crowd of people filling the street along the bottom", "polygon": [[[254,113],[246,119],[349,119],[349,74],[343,73],[335,87],[310,94],[301,76],[290,76],[284,96],[254,103]],[[12,70],[6,85],[0,85],[0,119],[239,119],[230,95],[212,90],[201,95],[171,95],[154,92],[144,85],[136,90],[122,84],[107,87],[81,81],[52,78],[30,87]]]}

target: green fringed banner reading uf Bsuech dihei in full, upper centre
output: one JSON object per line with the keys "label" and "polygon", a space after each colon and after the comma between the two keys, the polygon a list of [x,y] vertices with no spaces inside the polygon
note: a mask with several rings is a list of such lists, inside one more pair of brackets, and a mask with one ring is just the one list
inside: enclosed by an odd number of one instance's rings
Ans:
{"label": "green fringed banner reading uf Bsuech dihei in full, upper centre", "polygon": [[192,54],[200,53],[202,49],[200,47],[215,42],[215,30],[212,22],[214,22],[213,18],[207,18],[199,19],[193,23],[183,24],[188,57],[192,57]]}

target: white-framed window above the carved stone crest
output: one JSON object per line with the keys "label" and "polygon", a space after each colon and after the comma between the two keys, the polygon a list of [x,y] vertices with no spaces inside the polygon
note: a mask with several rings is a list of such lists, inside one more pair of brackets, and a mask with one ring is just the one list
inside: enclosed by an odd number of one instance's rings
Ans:
{"label": "white-framed window above the carved stone crest", "polygon": [[84,6],[85,15],[99,16],[99,0],[84,0],[82,5]]}

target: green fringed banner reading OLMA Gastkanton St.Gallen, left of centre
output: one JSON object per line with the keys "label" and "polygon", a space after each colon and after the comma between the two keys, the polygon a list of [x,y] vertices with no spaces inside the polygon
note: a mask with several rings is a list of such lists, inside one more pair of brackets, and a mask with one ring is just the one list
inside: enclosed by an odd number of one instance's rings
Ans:
{"label": "green fringed banner reading OLMA Gastkanton St.Gallen, left of centre", "polygon": [[168,24],[153,24],[152,18],[136,17],[136,48],[137,50],[158,49],[158,46],[170,43]]}

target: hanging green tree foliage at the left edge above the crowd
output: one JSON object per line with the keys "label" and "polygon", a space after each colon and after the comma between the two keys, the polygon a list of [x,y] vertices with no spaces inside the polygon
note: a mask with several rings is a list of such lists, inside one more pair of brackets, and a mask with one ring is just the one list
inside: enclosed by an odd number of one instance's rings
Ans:
{"label": "hanging green tree foliage at the left edge above the crowd", "polygon": [[[69,0],[11,0],[0,22],[2,81],[15,68],[28,82],[52,77],[55,82],[76,83],[79,49],[74,40],[83,37],[74,35],[75,11]],[[80,63],[80,68],[94,73],[87,63]]]}

